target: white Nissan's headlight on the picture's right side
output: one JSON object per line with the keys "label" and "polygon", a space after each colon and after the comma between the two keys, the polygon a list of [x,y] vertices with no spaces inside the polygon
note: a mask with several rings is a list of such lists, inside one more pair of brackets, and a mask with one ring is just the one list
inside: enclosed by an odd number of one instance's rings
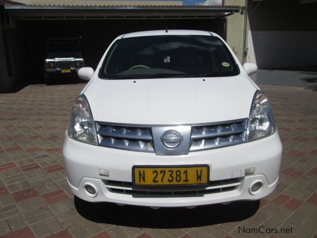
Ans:
{"label": "white Nissan's headlight on the picture's right side", "polygon": [[268,99],[262,91],[257,90],[250,110],[247,141],[260,139],[275,131],[276,125]]}

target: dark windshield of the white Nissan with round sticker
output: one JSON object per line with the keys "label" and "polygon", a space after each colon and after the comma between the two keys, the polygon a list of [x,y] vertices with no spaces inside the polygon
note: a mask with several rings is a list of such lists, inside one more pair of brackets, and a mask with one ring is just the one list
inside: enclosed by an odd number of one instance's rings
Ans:
{"label": "dark windshield of the white Nissan with round sticker", "polygon": [[215,36],[143,36],[117,40],[99,77],[104,79],[216,77],[239,74],[231,53]]}

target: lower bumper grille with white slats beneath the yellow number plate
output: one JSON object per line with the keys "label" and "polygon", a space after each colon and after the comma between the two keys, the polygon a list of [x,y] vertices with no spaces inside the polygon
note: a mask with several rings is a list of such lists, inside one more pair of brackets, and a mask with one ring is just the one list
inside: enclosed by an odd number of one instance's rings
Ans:
{"label": "lower bumper grille with white slats beneath the yellow number plate", "polygon": [[115,193],[131,194],[140,196],[202,196],[204,194],[232,191],[242,182],[243,178],[224,179],[210,181],[207,186],[168,186],[168,187],[138,187],[132,182],[103,180],[106,188]]}

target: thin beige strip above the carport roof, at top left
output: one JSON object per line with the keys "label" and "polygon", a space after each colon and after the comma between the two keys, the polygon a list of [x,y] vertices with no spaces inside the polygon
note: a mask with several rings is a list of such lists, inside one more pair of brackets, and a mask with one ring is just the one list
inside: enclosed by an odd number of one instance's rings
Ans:
{"label": "thin beige strip above the carport roof, at top left", "polygon": [[147,0],[15,0],[34,5],[183,5],[183,1],[147,1]]}

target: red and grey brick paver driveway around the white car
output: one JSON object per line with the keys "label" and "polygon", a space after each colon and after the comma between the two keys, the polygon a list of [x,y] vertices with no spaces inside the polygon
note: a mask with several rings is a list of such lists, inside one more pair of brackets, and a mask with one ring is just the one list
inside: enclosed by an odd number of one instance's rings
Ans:
{"label": "red and grey brick paver driveway around the white car", "polygon": [[72,103],[84,84],[30,85],[0,95],[0,237],[316,236],[317,92],[260,86],[273,104],[283,141],[276,190],[261,202],[191,210],[74,200],[61,149]]}

